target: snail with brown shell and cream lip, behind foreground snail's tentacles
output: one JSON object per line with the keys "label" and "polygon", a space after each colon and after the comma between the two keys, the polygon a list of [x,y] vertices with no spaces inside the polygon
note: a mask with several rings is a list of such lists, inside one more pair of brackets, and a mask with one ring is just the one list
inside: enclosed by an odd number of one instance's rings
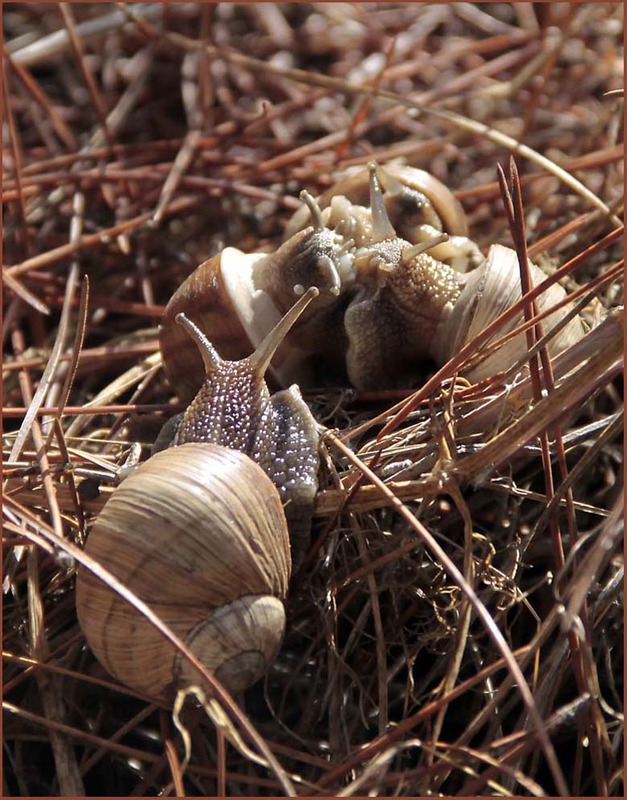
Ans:
{"label": "snail with brown shell and cream lip, behind foreground snail's tentacles", "polygon": [[[204,331],[224,358],[249,355],[298,296],[316,286],[318,314],[334,304],[350,267],[343,240],[333,231],[308,227],[298,231],[273,253],[243,253],[227,247],[203,262],[179,287],[166,307],[159,333],[163,365],[178,396],[191,400],[200,388],[202,361],[189,336],[176,324],[184,312]],[[311,313],[298,327],[307,329]],[[305,340],[308,337],[305,336]],[[292,341],[278,348],[271,372],[278,383],[289,385],[301,377],[300,348]]]}

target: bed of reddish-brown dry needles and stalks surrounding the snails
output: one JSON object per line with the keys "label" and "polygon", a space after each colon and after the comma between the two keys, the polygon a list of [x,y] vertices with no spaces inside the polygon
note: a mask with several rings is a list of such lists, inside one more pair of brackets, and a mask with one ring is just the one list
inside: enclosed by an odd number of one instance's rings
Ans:
{"label": "bed of reddish-brown dry needles and stalks surrounding the snails", "polygon": [[484,250],[524,223],[592,325],[617,309],[620,7],[3,10],[5,795],[622,796],[616,311],[510,427],[478,403],[503,376],[452,383],[469,353],[413,394],[308,397],[334,433],[284,647],[237,704],[187,705],[188,764],[84,644],[67,556],[177,408],[173,290],[349,165],[429,169]]}

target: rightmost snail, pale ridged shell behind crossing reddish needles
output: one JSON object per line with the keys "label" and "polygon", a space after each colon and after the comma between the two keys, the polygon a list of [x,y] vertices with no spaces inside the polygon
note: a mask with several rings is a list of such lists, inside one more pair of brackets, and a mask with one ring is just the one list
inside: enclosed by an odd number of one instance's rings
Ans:
{"label": "rightmost snail, pale ridged shell behind crossing reddish needles", "polygon": [[[532,285],[537,286],[546,274],[534,264],[529,267]],[[492,245],[483,264],[465,274],[429,255],[421,256],[404,271],[393,271],[383,286],[365,292],[347,308],[346,359],[351,383],[364,391],[411,386],[417,364],[426,360],[445,364],[521,296],[518,256],[509,247]],[[565,297],[565,290],[553,284],[539,296],[539,311],[548,311]],[[543,323],[545,332],[568,310],[567,305],[549,314]],[[522,322],[521,311],[491,341]],[[583,322],[575,316],[549,341],[550,354],[561,353],[584,335]],[[519,333],[461,374],[472,382],[481,381],[524,359],[526,352],[526,336]]]}

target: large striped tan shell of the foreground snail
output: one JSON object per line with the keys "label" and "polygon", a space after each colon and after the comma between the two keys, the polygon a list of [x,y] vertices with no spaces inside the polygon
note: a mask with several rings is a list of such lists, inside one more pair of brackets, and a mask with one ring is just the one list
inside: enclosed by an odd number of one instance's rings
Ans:
{"label": "large striped tan shell of the foreground snail", "polygon": [[[289,536],[276,488],[242,453],[204,443],[157,453],[111,496],[86,552],[231,692],[260,678],[276,654]],[[88,570],[79,571],[77,611],[98,660],[126,685],[163,697],[199,681],[172,644]]]}

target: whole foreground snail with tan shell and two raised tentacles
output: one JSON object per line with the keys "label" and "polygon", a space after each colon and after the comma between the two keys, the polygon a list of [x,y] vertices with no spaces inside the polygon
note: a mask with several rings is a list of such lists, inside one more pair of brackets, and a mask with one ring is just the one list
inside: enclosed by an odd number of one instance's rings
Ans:
{"label": "whole foreground snail with tan shell and two raised tentacles", "polygon": [[[281,644],[292,563],[309,544],[316,423],[296,386],[270,395],[264,375],[316,294],[307,291],[239,361],[222,359],[179,317],[202,353],[205,382],[112,494],[86,544],[235,693],[264,674]],[[169,698],[198,681],[170,642],[86,569],[77,613],[98,660],[126,685]]]}

